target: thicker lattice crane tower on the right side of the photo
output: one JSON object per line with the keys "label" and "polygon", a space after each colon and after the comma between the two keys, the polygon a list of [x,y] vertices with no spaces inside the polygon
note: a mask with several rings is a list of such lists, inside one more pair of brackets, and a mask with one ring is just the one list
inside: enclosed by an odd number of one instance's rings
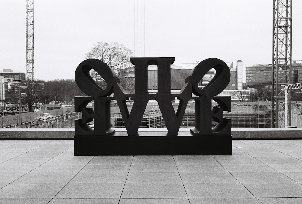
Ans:
{"label": "thicker lattice crane tower on the right side of the photo", "polygon": [[[292,0],[273,0],[273,62],[272,62],[272,120],[271,127],[284,124],[284,107],[280,101],[285,99],[282,85],[291,84],[291,33]],[[290,91],[289,91],[289,94]],[[291,97],[288,124],[291,125]]]}

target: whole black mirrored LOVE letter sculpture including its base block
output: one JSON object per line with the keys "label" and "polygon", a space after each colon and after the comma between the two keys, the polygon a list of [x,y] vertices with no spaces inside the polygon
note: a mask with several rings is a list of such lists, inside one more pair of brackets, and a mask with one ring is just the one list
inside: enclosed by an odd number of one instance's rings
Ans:
{"label": "whole black mirrored LOVE letter sculpture including its base block", "polygon": [[[130,58],[134,65],[134,94],[124,91],[114,70],[101,60],[88,59],[80,63],[75,73],[76,83],[88,97],[75,97],[75,111],[82,111],[82,119],[75,122],[75,155],[231,155],[231,121],[223,118],[223,111],[231,111],[231,98],[215,97],[230,81],[228,66],[217,58],[203,60],[191,70],[181,91],[171,93],[170,65],[174,60],[173,57]],[[149,65],[157,65],[156,94],[148,93]],[[215,76],[200,89],[198,83],[211,68],[216,70]],[[92,69],[103,77],[106,89],[92,79],[89,74]],[[175,97],[180,101],[176,113],[171,103]],[[129,98],[134,101],[131,112],[126,105]],[[195,128],[190,132],[181,131],[179,135],[191,99],[195,101]],[[92,100],[94,108],[86,108]],[[111,128],[112,100],[117,101],[127,134]],[[156,129],[138,131],[149,100],[158,102],[167,128],[164,136]],[[212,100],[219,107],[212,108]],[[214,128],[212,119],[218,123]],[[91,128],[87,123],[93,120],[94,128]]]}

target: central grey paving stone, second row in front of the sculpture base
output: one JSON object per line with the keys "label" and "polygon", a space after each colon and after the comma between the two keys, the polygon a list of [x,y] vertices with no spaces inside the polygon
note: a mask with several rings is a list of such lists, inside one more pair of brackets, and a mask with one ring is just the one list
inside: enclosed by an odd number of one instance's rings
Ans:
{"label": "central grey paving stone, second row in front of the sculpture base", "polygon": [[129,172],[177,172],[177,168],[175,164],[131,164]]}

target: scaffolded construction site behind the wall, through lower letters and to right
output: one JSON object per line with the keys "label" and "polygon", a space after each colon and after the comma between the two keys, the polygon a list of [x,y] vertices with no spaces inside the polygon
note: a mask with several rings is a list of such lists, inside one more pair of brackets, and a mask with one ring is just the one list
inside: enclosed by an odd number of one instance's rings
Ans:
{"label": "scaffolded construction site behind the wall, through lower letters and to right", "polygon": [[[215,105],[213,105],[215,106]],[[175,111],[178,104],[173,104]],[[283,109],[282,109],[283,108]],[[131,106],[129,106],[131,110]],[[301,127],[302,102],[292,105],[291,127]],[[284,117],[284,104],[279,104],[279,114]],[[271,102],[238,102],[232,105],[231,112],[224,112],[224,118],[232,120],[232,128],[271,128]],[[111,125],[113,128],[125,128],[117,107],[111,108]],[[212,128],[217,124],[212,121]],[[284,128],[285,124],[279,124]],[[195,127],[195,103],[190,101],[182,119],[181,128]],[[149,102],[140,124],[140,128],[165,128],[165,122],[156,102]]]}

